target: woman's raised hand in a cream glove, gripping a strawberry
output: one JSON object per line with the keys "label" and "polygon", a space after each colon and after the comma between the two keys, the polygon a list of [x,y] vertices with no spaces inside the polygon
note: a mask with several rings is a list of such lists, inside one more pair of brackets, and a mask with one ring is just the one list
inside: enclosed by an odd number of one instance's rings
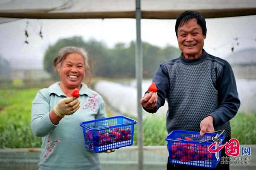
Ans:
{"label": "woman's raised hand in a cream glove, gripping a strawberry", "polygon": [[80,101],[73,97],[66,97],[61,99],[54,108],[57,116],[63,118],[65,115],[75,113],[80,108]]}

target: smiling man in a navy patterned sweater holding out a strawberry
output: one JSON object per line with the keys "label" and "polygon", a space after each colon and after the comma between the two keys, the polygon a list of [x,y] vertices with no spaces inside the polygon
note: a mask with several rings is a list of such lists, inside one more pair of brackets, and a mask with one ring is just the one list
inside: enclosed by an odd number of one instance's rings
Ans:
{"label": "smiling man in a navy patterned sweater holding out a strawberry", "polygon": [[[155,72],[153,82],[157,93],[146,92],[140,103],[149,113],[164,105],[166,129],[205,132],[225,130],[225,141],[231,136],[230,122],[240,106],[236,81],[230,64],[208,54],[204,49],[207,28],[204,17],[197,11],[185,11],[177,17],[175,32],[180,57],[162,63]],[[221,156],[226,156],[224,150]],[[184,169],[171,164],[167,169]],[[189,167],[192,169],[194,167]],[[216,169],[229,169],[218,164]],[[200,169],[196,167],[195,169]]]}

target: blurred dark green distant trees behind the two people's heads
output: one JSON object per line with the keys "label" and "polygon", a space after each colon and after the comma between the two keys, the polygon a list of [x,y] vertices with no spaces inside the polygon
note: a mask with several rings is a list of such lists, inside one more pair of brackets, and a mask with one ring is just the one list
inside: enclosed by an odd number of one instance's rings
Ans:
{"label": "blurred dark green distant trees behind the two people's heads", "polygon": [[[54,75],[53,60],[64,46],[84,47],[89,55],[93,77],[134,78],[135,77],[135,42],[117,43],[108,48],[96,40],[84,41],[81,37],[58,40],[48,47],[44,55],[44,69]],[[161,62],[177,58],[180,50],[172,46],[159,48],[143,42],[143,77],[152,78]]]}

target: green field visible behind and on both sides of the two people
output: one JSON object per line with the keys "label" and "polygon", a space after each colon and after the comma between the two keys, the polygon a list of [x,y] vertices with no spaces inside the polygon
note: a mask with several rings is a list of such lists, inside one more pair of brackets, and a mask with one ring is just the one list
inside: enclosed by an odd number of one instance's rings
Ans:
{"label": "green field visible behind and on both sides of the two people", "polygon": [[[0,148],[40,147],[41,138],[30,130],[32,101],[39,88],[0,90]],[[107,115],[111,116],[108,112]],[[256,113],[238,113],[230,122],[232,138],[240,144],[256,144]],[[166,145],[165,117],[150,115],[143,120],[144,145]],[[137,144],[137,128],[134,130]]]}

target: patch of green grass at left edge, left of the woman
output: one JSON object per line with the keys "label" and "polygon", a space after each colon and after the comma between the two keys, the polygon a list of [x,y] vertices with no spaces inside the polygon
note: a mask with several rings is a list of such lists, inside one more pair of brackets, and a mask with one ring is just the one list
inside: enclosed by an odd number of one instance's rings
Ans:
{"label": "patch of green grass at left edge, left of the woman", "polygon": [[32,134],[30,112],[39,89],[0,90],[0,148],[40,147],[41,138]]}

